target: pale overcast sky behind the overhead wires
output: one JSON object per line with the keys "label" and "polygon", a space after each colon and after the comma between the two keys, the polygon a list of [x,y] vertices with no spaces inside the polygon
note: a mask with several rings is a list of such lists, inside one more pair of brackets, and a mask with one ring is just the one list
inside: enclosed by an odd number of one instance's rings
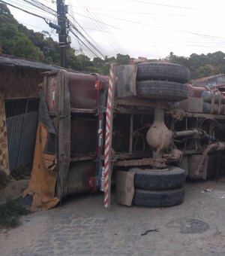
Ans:
{"label": "pale overcast sky behind the overhead wires", "polygon": [[[56,18],[34,8],[40,2],[56,10],[55,0],[5,0],[56,23]],[[104,56],[128,54],[138,58],[165,58],[191,53],[225,52],[224,0],[66,0],[68,18]],[[58,35],[41,18],[10,8],[28,29],[46,30],[55,41]],[[71,35],[71,47],[92,57],[90,50]]]}

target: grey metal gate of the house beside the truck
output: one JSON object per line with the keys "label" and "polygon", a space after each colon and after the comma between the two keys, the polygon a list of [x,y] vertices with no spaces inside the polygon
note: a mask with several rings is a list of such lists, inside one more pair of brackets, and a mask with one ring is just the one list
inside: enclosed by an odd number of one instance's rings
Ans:
{"label": "grey metal gate of the house beside the truck", "polygon": [[10,172],[33,162],[38,106],[37,98],[5,102]]}

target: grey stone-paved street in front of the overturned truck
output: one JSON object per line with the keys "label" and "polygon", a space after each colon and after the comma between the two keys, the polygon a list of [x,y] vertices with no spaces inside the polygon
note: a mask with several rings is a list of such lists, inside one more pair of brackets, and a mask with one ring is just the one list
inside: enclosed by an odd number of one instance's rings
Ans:
{"label": "grey stone-paved street in front of the overturned truck", "polygon": [[165,209],[104,209],[103,195],[77,195],[0,233],[1,255],[225,255],[225,184],[186,184]]}

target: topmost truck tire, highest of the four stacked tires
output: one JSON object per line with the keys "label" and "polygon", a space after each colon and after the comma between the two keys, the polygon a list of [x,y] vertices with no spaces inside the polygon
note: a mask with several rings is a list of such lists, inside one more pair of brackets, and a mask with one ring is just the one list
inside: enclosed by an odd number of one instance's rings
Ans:
{"label": "topmost truck tire, highest of the four stacked tires", "polygon": [[187,83],[190,71],[185,66],[162,62],[142,62],[137,64],[137,81],[162,80]]}

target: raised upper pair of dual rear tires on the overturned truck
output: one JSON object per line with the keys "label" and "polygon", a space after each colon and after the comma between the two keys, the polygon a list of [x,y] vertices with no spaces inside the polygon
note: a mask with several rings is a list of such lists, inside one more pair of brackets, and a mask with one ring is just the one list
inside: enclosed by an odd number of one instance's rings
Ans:
{"label": "raised upper pair of dual rear tires on the overturned truck", "polygon": [[164,62],[137,64],[136,98],[178,102],[188,97],[190,71]]}

